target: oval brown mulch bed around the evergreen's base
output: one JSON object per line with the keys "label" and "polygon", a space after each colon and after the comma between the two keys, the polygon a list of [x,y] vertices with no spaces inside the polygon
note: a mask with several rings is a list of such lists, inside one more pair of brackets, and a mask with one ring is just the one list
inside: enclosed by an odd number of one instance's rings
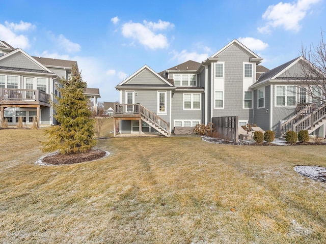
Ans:
{"label": "oval brown mulch bed around the evergreen's base", "polygon": [[93,149],[85,153],[49,155],[42,159],[42,163],[48,165],[77,164],[101,159],[105,156],[106,151]]}

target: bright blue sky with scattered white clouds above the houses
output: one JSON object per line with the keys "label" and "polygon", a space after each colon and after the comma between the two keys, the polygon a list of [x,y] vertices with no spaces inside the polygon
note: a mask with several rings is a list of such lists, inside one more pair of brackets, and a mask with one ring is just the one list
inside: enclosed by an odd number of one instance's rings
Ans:
{"label": "bright blue sky with scattered white clouds above the houses", "polygon": [[[233,39],[273,69],[326,31],[326,0],[1,1],[0,40],[32,56],[75,60],[99,102],[144,65],[201,63]],[[326,34],[324,34],[326,38]]]}

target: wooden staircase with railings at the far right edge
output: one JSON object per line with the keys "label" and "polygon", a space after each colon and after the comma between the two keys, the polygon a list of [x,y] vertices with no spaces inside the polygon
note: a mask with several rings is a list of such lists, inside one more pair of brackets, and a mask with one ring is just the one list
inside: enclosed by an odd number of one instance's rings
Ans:
{"label": "wooden staircase with railings at the far right edge", "polygon": [[309,104],[305,108],[298,111],[295,115],[281,123],[281,136],[287,131],[308,130],[311,134],[319,127],[326,123],[326,104],[315,107],[315,104]]}

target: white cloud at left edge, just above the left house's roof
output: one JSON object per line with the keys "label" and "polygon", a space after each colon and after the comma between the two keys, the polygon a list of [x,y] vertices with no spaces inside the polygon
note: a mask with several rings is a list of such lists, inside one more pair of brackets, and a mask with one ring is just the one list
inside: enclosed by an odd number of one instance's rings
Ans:
{"label": "white cloud at left edge, just above the left house's roof", "polygon": [[17,35],[9,27],[0,24],[0,40],[7,42],[15,48],[28,49],[30,42],[27,36]]}

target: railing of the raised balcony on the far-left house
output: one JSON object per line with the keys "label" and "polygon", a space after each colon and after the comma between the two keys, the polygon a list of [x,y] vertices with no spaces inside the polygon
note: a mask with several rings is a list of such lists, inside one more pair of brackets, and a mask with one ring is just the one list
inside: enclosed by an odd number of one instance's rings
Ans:
{"label": "railing of the raised balcony on the far-left house", "polygon": [[43,90],[0,88],[0,101],[38,101],[49,103],[50,95]]}

